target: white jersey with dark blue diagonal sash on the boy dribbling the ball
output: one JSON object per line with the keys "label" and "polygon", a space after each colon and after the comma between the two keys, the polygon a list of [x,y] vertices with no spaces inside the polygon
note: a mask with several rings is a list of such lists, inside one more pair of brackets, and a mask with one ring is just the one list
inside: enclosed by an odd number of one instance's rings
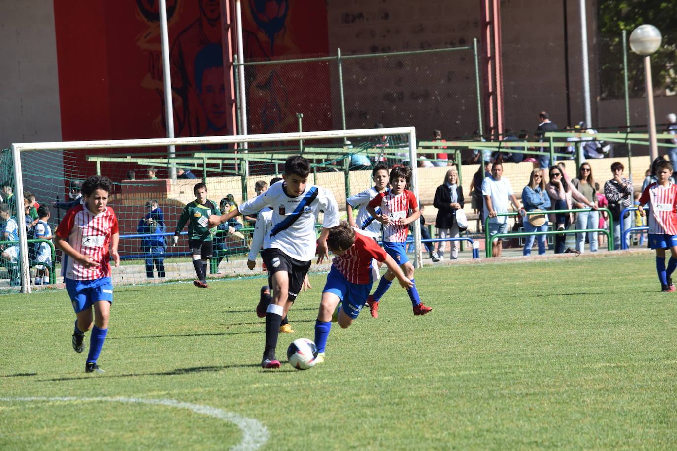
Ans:
{"label": "white jersey with dark blue diagonal sash on the boy dribbling the ball", "polygon": [[284,181],[274,183],[264,193],[243,202],[238,210],[242,214],[260,212],[265,207],[273,210],[271,228],[263,239],[263,249],[279,249],[291,258],[307,262],[313,260],[317,234],[315,218],[324,212],[322,227],[339,225],[339,206],[327,189],[307,184],[299,196],[286,193]]}

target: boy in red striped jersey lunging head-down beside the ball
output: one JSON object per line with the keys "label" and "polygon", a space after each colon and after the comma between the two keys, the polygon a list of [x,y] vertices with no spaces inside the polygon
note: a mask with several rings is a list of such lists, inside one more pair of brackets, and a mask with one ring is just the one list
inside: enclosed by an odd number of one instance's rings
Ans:
{"label": "boy in red striped jersey lunging head-down beside the ball", "polygon": [[[335,257],[322,290],[318,320],[315,321],[315,345],[318,347],[315,361],[318,363],[324,362],[324,349],[332,321],[339,321],[339,326],[347,329],[362,310],[374,281],[378,279],[374,259],[385,263],[404,289],[414,286],[414,282],[405,277],[395,260],[370,235],[350,227],[345,221],[329,230],[327,247]],[[332,318],[337,308],[338,314]]]}

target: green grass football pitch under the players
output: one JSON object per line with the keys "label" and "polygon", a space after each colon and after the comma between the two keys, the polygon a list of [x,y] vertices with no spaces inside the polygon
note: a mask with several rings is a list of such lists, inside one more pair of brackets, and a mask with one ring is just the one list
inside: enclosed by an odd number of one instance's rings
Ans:
{"label": "green grass football pitch under the players", "polygon": [[413,316],[393,284],[380,318],[334,325],[326,363],[296,371],[286,347],[313,339],[324,278],[290,311],[278,371],[259,367],[262,278],[116,288],[104,375],[71,348],[65,291],[3,295],[0,448],[677,444],[677,293],[653,255],[423,268],[433,312]]}

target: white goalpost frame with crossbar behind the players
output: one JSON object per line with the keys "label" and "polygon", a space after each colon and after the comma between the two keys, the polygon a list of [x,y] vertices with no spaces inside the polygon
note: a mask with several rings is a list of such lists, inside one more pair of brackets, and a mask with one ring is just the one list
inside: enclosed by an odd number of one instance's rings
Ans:
{"label": "white goalpost frame with crossbar behind the players", "polygon": [[[14,172],[14,180],[16,193],[24,192],[24,173],[22,172],[21,153],[27,151],[68,151],[77,150],[79,152],[87,151],[88,149],[110,149],[111,153],[114,149],[125,149],[131,147],[167,147],[167,146],[209,146],[209,145],[229,145],[238,144],[242,147],[248,143],[279,143],[282,141],[301,141],[301,140],[322,140],[322,139],[351,139],[364,137],[378,137],[383,135],[399,135],[408,139],[408,160],[412,166],[412,183],[410,189],[419,199],[419,184],[418,184],[418,170],[416,168],[417,146],[416,146],[416,129],[413,126],[404,127],[389,127],[389,128],[364,128],[359,130],[328,130],[318,132],[302,132],[302,133],[269,133],[265,135],[239,135],[239,136],[222,136],[222,137],[189,137],[189,138],[158,138],[158,139],[114,139],[107,141],[68,141],[68,142],[51,142],[51,143],[14,143],[12,144],[12,164]],[[240,147],[238,146],[238,147]],[[404,148],[402,149],[404,150]],[[249,149],[249,155],[252,155],[252,149]],[[209,153],[209,150],[196,151],[200,154]],[[228,151],[232,152],[232,151]],[[143,154],[137,154],[135,157],[143,157]],[[223,150],[219,151],[219,156],[223,158]],[[91,174],[90,174],[91,175]],[[38,177],[39,179],[39,177]],[[33,181],[33,183],[39,183]],[[322,183],[318,183],[322,185]],[[361,187],[362,189],[367,188]],[[328,187],[333,192],[332,187]],[[334,193],[336,195],[336,193]],[[24,217],[24,205],[22,202],[16,203],[17,218]],[[22,221],[20,221],[22,224]],[[414,266],[420,268],[422,266],[421,243],[420,243],[420,222],[418,220],[413,223],[414,233]],[[26,228],[18,227],[19,235],[19,271],[21,281],[21,292],[30,293],[30,266],[28,256],[28,245],[26,240]],[[56,265],[56,262],[53,262]]]}

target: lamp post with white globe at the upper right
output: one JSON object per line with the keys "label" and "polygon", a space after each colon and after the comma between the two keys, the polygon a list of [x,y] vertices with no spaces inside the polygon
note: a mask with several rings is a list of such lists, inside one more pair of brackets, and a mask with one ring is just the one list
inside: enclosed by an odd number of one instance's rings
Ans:
{"label": "lamp post with white globe at the upper right", "polygon": [[656,141],[656,115],[653,110],[653,82],[651,81],[651,53],[661,47],[661,32],[653,25],[640,25],[630,33],[630,49],[644,57],[644,70],[647,80],[647,116],[649,118],[649,151],[651,161],[658,157]]}

